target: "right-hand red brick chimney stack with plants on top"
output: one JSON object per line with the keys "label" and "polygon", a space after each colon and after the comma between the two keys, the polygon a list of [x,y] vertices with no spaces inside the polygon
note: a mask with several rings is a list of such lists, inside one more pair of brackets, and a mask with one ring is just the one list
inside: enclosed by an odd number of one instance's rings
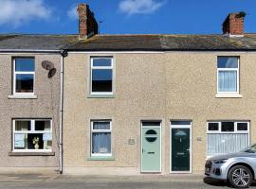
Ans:
{"label": "right-hand red brick chimney stack with plants on top", "polygon": [[229,13],[222,26],[223,34],[229,34],[229,36],[243,36],[245,16],[246,12],[243,11]]}

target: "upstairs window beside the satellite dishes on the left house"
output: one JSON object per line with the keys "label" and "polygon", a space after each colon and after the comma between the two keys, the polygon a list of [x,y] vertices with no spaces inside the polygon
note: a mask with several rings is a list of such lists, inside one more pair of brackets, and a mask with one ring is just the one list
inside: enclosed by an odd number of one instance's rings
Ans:
{"label": "upstairs window beside the satellite dishes on the left house", "polygon": [[35,60],[15,58],[13,60],[13,94],[33,94]]}

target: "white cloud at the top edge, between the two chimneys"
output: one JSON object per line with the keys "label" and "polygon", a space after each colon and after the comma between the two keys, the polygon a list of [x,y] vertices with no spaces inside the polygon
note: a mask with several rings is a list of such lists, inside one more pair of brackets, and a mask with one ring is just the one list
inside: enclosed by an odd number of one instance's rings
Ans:
{"label": "white cloud at the top edge, between the two chimneys", "polygon": [[164,2],[156,2],[155,0],[122,0],[119,3],[119,10],[132,14],[149,14],[160,9],[164,5]]}

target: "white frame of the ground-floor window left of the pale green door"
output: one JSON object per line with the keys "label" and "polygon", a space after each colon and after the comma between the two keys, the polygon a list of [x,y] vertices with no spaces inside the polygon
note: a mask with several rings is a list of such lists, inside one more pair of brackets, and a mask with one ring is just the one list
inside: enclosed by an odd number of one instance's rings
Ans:
{"label": "white frame of the ground-floor window left of the pale green door", "polygon": [[[109,122],[109,129],[93,129],[93,124],[94,122]],[[110,153],[92,153],[92,138],[93,138],[93,133],[100,133],[100,132],[107,132],[107,133],[110,133]],[[112,157],[112,120],[109,120],[109,119],[101,119],[101,120],[91,120],[91,149],[90,149],[90,155],[91,157]]]}

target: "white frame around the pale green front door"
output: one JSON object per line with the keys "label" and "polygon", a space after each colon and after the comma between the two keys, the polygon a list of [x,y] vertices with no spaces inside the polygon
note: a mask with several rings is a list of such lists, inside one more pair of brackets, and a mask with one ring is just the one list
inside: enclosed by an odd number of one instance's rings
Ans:
{"label": "white frame around the pale green front door", "polygon": [[[159,126],[144,126],[143,127],[143,122],[155,122],[155,120],[152,121],[141,121],[140,122],[140,173],[161,173],[162,172],[162,122],[159,121],[160,125]],[[143,171],[142,169],[142,128],[159,128],[160,133],[159,133],[159,139],[160,139],[160,169],[157,171]]]}

